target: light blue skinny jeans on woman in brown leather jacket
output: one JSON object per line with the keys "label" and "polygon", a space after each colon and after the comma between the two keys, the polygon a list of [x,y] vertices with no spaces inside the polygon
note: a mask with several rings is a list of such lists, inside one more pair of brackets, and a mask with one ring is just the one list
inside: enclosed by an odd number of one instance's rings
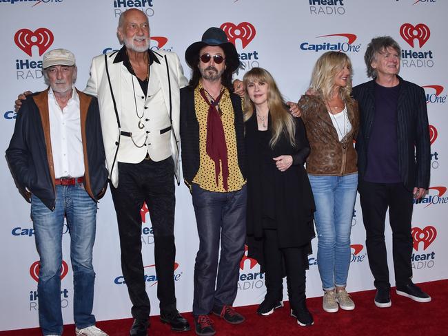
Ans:
{"label": "light blue skinny jeans on woman in brown leather jacket", "polygon": [[345,287],[350,265],[350,232],[358,174],[308,175],[314,195],[318,233],[317,262],[325,291]]}

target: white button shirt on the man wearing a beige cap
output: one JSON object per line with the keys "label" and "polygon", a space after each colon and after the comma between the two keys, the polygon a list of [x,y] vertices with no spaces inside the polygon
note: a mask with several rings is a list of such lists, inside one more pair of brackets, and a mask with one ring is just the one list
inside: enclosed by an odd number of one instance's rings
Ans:
{"label": "white button shirt on the man wearing a beige cap", "polygon": [[72,98],[63,110],[59,107],[52,88],[48,90],[50,139],[55,178],[84,176],[79,96],[74,87],[72,90]]}

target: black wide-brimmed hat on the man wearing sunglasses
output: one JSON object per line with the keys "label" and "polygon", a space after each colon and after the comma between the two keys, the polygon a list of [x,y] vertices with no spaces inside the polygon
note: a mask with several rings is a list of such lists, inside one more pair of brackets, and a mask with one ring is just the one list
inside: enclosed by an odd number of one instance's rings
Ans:
{"label": "black wide-brimmed hat on the man wearing sunglasses", "polygon": [[227,67],[229,67],[232,72],[238,69],[240,60],[235,45],[227,40],[227,35],[222,29],[216,27],[211,27],[205,30],[201,41],[193,43],[185,51],[185,61],[187,61],[190,67],[195,66],[196,61],[199,59],[199,51],[207,45],[223,48],[225,52],[225,64]]}

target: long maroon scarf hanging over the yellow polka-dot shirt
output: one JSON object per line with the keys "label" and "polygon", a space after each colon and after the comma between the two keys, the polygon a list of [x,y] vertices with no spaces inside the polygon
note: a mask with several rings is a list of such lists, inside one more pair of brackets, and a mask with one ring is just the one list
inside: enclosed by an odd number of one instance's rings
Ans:
{"label": "long maroon scarf hanging over the yellow polka-dot shirt", "polygon": [[219,115],[218,109],[216,108],[223,96],[224,90],[221,91],[218,98],[215,101],[210,101],[205,94],[205,90],[202,88],[199,90],[201,96],[204,98],[205,102],[208,104],[208,115],[207,115],[207,141],[206,149],[207,155],[214,161],[214,172],[216,185],[218,185],[218,177],[220,172],[219,161],[221,160],[223,164],[223,186],[225,191],[228,189],[227,180],[229,178],[229,164],[227,162],[227,145],[225,143],[224,127],[221,116]]}

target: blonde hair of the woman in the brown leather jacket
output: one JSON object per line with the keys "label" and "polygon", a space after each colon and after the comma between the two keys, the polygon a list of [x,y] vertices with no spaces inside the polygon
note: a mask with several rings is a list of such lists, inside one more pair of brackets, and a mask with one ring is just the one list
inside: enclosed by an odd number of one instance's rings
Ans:
{"label": "blonde hair of the woman in the brown leather jacket", "polygon": [[314,65],[309,89],[316,92],[323,101],[332,98],[334,78],[347,65],[350,75],[347,78],[347,86],[339,88],[339,96],[345,103],[352,103],[352,62],[349,56],[343,52],[325,52]]}

